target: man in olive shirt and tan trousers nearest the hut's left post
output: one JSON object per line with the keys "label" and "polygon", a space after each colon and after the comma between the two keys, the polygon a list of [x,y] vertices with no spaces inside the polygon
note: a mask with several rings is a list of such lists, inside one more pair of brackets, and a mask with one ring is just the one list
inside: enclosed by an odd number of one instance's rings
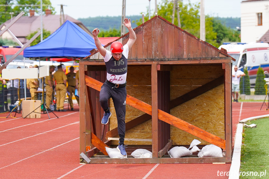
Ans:
{"label": "man in olive shirt and tan trousers nearest the hut's left post", "polygon": [[[73,101],[72,101],[72,96],[73,94],[75,94],[75,88],[76,88],[76,73],[74,73],[74,66],[70,66],[69,67],[69,73],[66,74],[66,77],[67,77],[67,91],[70,93],[68,95],[68,102],[70,104],[70,107],[71,107],[71,110],[73,111],[74,110],[74,105],[73,105]],[[76,97],[76,100],[78,101],[79,103],[79,98],[77,96]]]}

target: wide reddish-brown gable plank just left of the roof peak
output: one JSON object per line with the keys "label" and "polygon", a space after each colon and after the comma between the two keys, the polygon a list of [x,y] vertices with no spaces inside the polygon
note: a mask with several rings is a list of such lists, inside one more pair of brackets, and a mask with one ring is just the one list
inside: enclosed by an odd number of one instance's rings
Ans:
{"label": "wide reddish-brown gable plank just left of the roof peak", "polygon": [[143,58],[152,58],[152,23],[143,26]]}

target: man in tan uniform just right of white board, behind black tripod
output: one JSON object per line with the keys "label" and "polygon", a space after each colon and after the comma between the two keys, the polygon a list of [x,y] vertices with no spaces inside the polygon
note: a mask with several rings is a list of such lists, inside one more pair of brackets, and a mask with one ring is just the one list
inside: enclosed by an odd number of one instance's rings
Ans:
{"label": "man in tan uniform just right of white board, behind black tripod", "polygon": [[52,72],[54,71],[55,66],[51,65],[50,66],[50,75],[46,76],[45,79],[45,84],[46,84],[46,108],[50,108],[50,104],[51,104],[51,97],[52,97],[52,93],[53,93],[53,87],[54,87],[54,83],[53,83],[53,77],[52,77]]}

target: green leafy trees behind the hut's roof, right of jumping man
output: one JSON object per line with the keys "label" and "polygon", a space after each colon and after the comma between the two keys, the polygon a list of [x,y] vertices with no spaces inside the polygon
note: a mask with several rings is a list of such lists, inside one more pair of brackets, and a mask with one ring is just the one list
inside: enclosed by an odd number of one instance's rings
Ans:
{"label": "green leafy trees behind the hut's roof, right of jumping man", "polygon": [[[199,3],[192,4],[189,0],[188,3],[186,4],[183,4],[182,1],[179,1],[178,4],[179,4],[181,28],[196,37],[200,37]],[[162,0],[162,2],[158,5],[158,15],[165,18],[167,21],[172,22],[172,13],[173,13],[173,2],[168,0]],[[175,15],[174,24],[176,26],[178,25],[177,18],[178,17]],[[144,19],[145,21],[148,20],[148,14],[144,16]],[[140,19],[136,23],[137,25],[142,24],[142,19]],[[225,33],[221,33],[224,29]],[[239,34],[236,34],[236,32],[234,32],[230,28],[224,27],[220,23],[220,21],[217,21],[216,18],[210,17],[208,15],[205,17],[205,30],[206,30],[205,41],[212,44],[213,46],[219,47],[222,44],[223,39],[225,41],[231,41],[231,42],[240,41]]]}

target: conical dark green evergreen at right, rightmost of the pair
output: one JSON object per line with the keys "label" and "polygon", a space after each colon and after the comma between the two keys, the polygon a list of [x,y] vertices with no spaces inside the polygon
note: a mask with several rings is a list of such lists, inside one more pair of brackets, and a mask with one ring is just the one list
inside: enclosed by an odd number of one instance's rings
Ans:
{"label": "conical dark green evergreen at right, rightmost of the pair", "polygon": [[257,95],[265,95],[265,83],[266,81],[264,80],[265,75],[264,75],[264,71],[262,70],[261,67],[258,68],[257,71],[257,77],[256,77],[256,82],[255,82],[255,92],[254,94]]}

